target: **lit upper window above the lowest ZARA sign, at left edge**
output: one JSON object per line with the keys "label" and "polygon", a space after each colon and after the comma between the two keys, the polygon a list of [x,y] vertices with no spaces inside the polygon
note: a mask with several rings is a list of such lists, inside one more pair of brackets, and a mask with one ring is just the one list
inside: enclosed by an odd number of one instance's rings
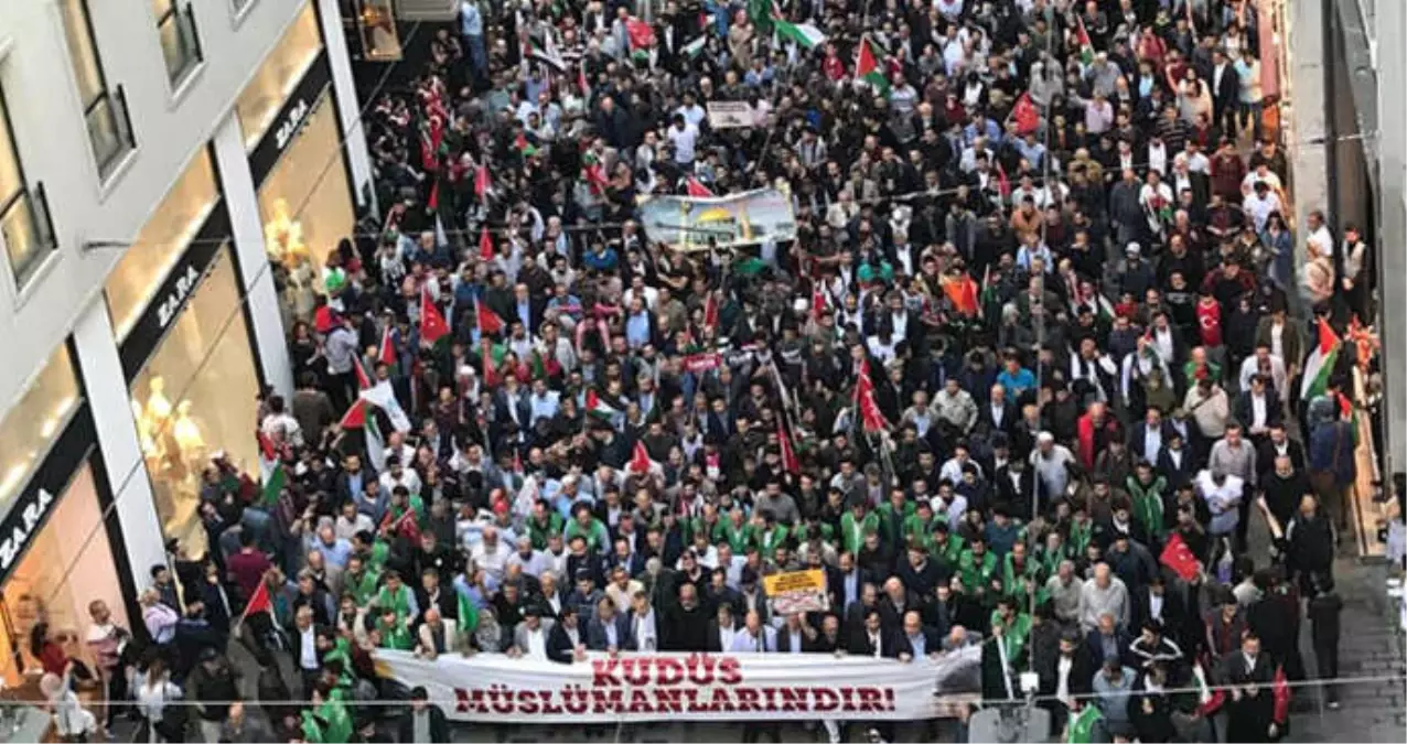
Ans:
{"label": "lit upper window above the lowest ZARA sign, at left edge", "polygon": [[59,345],[34,384],[0,421],[0,513],[44,461],[79,404],[68,345]]}

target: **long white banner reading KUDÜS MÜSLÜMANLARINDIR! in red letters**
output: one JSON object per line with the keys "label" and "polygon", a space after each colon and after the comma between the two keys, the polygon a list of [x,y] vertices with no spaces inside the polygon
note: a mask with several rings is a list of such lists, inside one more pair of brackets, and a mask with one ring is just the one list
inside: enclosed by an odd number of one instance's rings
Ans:
{"label": "long white banner reading KUD\u00dcS M\u00dcSL\u00dcMANLARINDIR! in red letters", "polygon": [[[424,685],[450,720],[922,720],[979,692],[979,647],[909,662],[830,654],[590,654],[574,664],[502,654],[377,651],[384,676]],[[941,695],[940,695],[941,693]]]}

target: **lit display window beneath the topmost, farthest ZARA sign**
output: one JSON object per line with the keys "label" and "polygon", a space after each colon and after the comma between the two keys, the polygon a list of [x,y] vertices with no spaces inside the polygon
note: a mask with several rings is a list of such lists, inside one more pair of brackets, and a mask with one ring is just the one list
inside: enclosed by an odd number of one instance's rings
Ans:
{"label": "lit display window beneath the topmost, farthest ZARA sign", "polygon": [[259,187],[259,214],[269,259],[281,280],[286,319],[310,318],[314,295],[326,291],[328,255],[356,228],[331,93],[318,98]]}

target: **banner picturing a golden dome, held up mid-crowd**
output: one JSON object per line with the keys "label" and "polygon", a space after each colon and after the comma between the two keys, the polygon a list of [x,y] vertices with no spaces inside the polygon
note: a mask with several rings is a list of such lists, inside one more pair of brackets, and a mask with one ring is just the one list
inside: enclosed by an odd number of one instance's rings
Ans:
{"label": "banner picturing a golden dome, held up mid-crowd", "polygon": [[651,240],[675,250],[706,250],[796,238],[796,215],[787,194],[758,188],[726,197],[651,197],[640,205]]}

